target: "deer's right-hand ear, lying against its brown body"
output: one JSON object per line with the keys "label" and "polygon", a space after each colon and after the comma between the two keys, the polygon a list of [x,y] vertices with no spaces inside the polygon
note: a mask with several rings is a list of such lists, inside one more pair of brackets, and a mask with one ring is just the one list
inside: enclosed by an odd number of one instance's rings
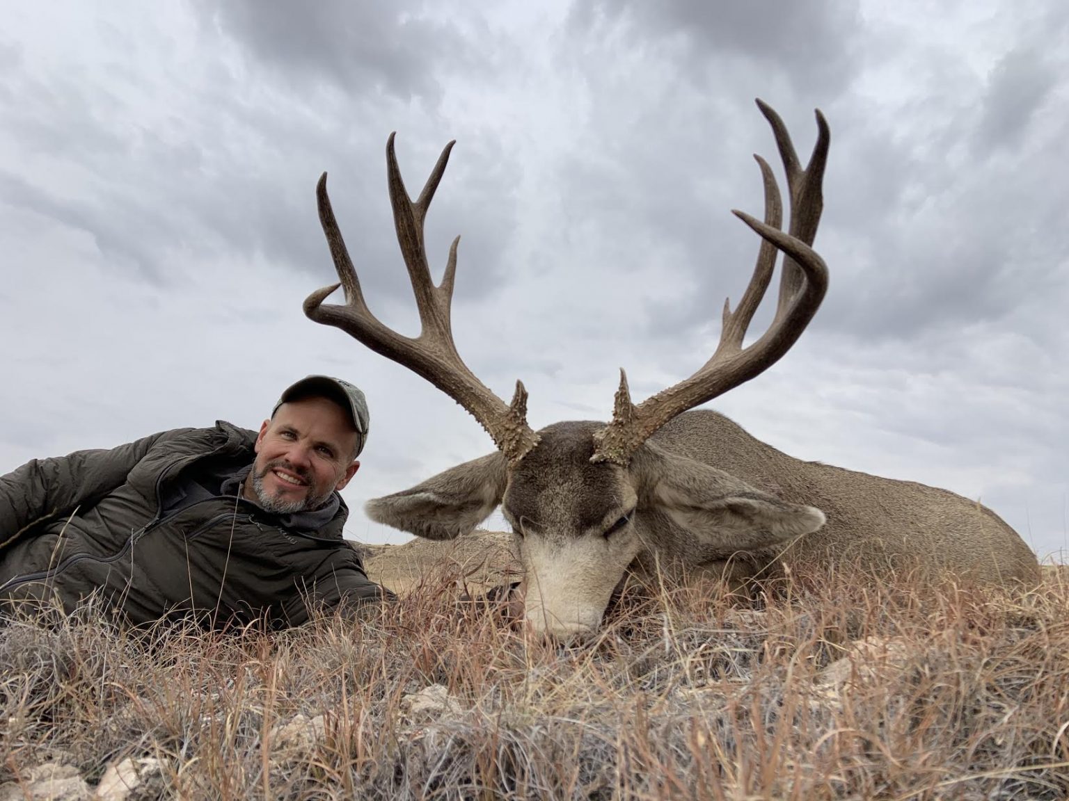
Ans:
{"label": "deer's right-hand ear, lying against its brown body", "polygon": [[667,515],[706,553],[728,559],[739,551],[786,545],[824,524],[815,506],[788,503],[723,470],[646,443],[632,475],[651,512]]}

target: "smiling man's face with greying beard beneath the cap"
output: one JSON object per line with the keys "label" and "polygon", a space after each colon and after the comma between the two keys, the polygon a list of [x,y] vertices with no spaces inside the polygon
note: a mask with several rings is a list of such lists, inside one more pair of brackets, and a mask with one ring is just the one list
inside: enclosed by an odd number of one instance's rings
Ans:
{"label": "smiling man's face with greying beard beneath the cap", "polygon": [[332,400],[282,404],[260,426],[245,496],[277,514],[317,508],[360,467],[352,458],[356,443],[348,414]]}

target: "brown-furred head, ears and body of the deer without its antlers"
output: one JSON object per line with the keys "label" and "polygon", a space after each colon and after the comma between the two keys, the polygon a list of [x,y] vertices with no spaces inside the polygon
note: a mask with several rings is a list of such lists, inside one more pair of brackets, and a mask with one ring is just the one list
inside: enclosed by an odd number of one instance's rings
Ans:
{"label": "brown-furred head, ears and body of the deer without its antlers", "polygon": [[785,565],[1005,586],[1038,581],[1021,537],[952,492],[795,459],[708,410],[680,414],[626,468],[592,464],[602,425],[547,426],[511,469],[499,453],[464,462],[370,501],[368,515],[445,539],[467,534],[500,503],[528,577],[580,577],[552,583],[567,598],[539,595],[540,609],[528,610],[537,627],[567,633],[589,625],[533,618],[552,607],[557,617],[568,609],[589,621],[629,569],[654,566],[700,567],[731,581],[783,575]]}

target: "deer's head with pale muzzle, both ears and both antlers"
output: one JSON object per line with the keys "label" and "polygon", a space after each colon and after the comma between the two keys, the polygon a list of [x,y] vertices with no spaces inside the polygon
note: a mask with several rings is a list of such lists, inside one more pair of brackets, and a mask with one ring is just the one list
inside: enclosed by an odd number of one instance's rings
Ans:
{"label": "deer's head with pale muzzle, both ears and both antlers", "polygon": [[[780,230],[783,205],[775,176],[756,156],[764,180],[764,220],[734,214],[763,241],[739,305],[732,310],[725,302],[715,352],[690,378],[638,405],[632,403],[621,370],[608,424],[566,422],[536,433],[527,424],[523,383],[516,381],[512,402],[506,404],[458,355],[450,302],[459,237],[437,286],[423,247],[423,220],[453,142],[446,145],[416,201],[401,179],[393,135],[386,147],[398,241],[422,328],[416,339],[385,327],[368,309],[330,207],[326,174],[320,179],[320,219],[340,283],[309,296],[305,313],[347,331],[433,383],[467,409],[498,449],[410,489],[370,501],[368,515],[419,536],[446,539],[470,532],[501,505],[518,537],[526,570],[526,617],[536,630],[573,634],[597,628],[613,590],[644,554],[700,564],[761,553],[824,523],[819,509],[786,503],[678,450],[669,452],[656,438],[651,440],[682,412],[748,381],[781,358],[812,319],[827,289],[827,268],[810,248],[823,206],[827,124],[818,111],[817,143],[802,168],[783,121],[760,100],[758,107],[772,126],[787,174],[788,232]],[[760,337],[743,347],[778,251],[786,257],[775,316]],[[345,304],[325,304],[339,286]]]}

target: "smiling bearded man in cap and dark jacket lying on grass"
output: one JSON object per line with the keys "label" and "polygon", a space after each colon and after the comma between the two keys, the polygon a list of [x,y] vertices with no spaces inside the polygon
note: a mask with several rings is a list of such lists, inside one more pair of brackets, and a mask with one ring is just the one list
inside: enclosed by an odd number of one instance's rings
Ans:
{"label": "smiling bearded man in cap and dark jacket lying on grass", "polygon": [[259,434],[219,421],[30,461],[0,477],[0,603],[282,628],[389,597],[342,539],[368,429],[359,389],[308,376]]}

